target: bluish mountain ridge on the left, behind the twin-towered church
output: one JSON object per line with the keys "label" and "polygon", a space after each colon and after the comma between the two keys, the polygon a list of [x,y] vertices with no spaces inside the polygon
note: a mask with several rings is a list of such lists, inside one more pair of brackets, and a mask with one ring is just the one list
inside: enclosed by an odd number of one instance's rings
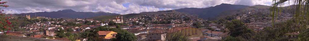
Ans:
{"label": "bluish mountain ridge on the left, behind the twin-towered church", "polygon": [[31,17],[50,17],[50,18],[90,18],[97,16],[120,15],[116,13],[106,12],[76,12],[72,9],[64,9],[53,12],[36,12],[36,13],[21,13],[21,15],[30,15]]}

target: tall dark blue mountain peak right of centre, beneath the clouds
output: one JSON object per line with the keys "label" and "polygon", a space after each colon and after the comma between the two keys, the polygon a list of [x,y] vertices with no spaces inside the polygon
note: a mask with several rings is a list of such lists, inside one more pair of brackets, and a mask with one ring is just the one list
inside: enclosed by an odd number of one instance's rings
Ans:
{"label": "tall dark blue mountain peak right of centre, beneath the clouds", "polygon": [[207,19],[211,19],[213,17],[218,16],[219,13],[229,11],[229,10],[242,9],[246,7],[249,7],[249,6],[222,3],[220,5],[212,6],[208,8],[183,8],[183,9],[175,9],[175,10],[178,12],[182,12],[182,13],[198,15],[198,17],[207,20]]}

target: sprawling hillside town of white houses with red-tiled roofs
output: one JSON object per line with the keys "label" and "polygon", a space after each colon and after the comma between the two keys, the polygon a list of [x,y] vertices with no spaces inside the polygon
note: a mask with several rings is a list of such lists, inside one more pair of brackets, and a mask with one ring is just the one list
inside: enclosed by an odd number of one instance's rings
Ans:
{"label": "sprawling hillside town of white houses with red-tiled roofs", "polygon": [[[259,11],[260,10],[260,11]],[[256,9],[243,12],[236,16],[226,18],[245,21],[248,28],[259,32],[265,27],[270,27],[271,21],[269,14],[263,12],[267,9]],[[255,16],[256,13],[262,13],[263,16]],[[283,14],[281,17],[291,17],[289,14]],[[290,18],[277,17],[276,21],[285,21]],[[224,26],[224,21],[212,22],[203,20],[193,15],[187,14],[146,14],[138,17],[123,18],[122,15],[117,15],[115,18],[107,21],[96,21],[93,19],[59,19],[48,17],[30,17],[26,15],[23,17],[26,21],[34,21],[31,24],[22,26],[24,31],[8,32],[7,35],[34,37],[44,39],[57,40],[72,40],[69,38],[60,38],[58,34],[80,34],[87,30],[94,30],[99,28],[120,28],[126,30],[137,37],[137,41],[158,41],[165,40],[167,33],[181,32],[193,41],[204,40],[222,40],[227,37],[227,28]],[[12,17],[11,19],[21,19]],[[226,19],[226,20],[231,20]],[[36,21],[37,20],[37,21]],[[225,19],[222,19],[225,20]],[[176,29],[176,30],[175,30]],[[62,30],[62,31],[61,31]],[[59,33],[64,32],[64,33]],[[115,38],[116,31],[98,31],[99,39],[103,41],[111,41]],[[154,35],[155,34],[155,35]],[[287,34],[288,35],[288,34]],[[70,36],[70,35],[68,35]],[[79,37],[79,36],[76,36]],[[86,38],[73,38],[76,41],[85,41]]]}

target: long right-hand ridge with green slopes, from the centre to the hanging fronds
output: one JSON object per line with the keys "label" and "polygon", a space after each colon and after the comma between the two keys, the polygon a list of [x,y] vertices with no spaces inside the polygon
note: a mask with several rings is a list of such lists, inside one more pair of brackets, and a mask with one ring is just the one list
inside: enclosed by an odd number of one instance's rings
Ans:
{"label": "long right-hand ridge with green slopes, from the centre to the hanging fronds", "polygon": [[[166,11],[157,11],[157,12],[142,12],[137,14],[125,14],[123,16],[128,17],[136,17],[138,15],[143,14],[167,14],[167,13],[179,13],[179,14],[190,14],[198,16],[199,18],[203,18],[204,20],[216,20],[218,18],[226,17],[233,15],[235,13],[242,12],[242,10],[252,10],[252,9],[260,9],[260,8],[269,8],[270,6],[265,5],[255,5],[255,6],[245,6],[245,5],[232,5],[222,3],[217,6],[212,6],[208,8],[182,8],[182,9],[174,9],[174,10],[166,10]],[[92,17],[92,18],[100,18],[97,20],[110,19],[113,16],[100,16],[100,17]]]}

